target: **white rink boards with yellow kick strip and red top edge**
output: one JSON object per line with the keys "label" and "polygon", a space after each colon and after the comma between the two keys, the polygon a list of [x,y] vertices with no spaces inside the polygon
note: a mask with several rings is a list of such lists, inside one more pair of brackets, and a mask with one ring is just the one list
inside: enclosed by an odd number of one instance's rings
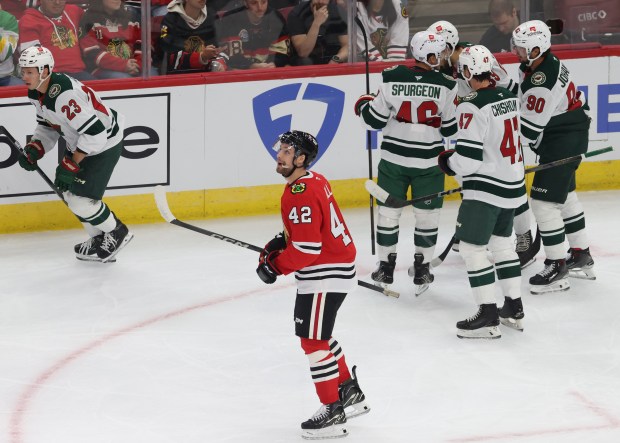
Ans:
{"label": "white rink boards with yellow kick strip and red top edge", "polygon": [[[561,54],[591,108],[590,150],[614,146],[578,171],[578,190],[620,188],[620,50]],[[512,60],[512,59],[508,59]],[[504,62],[508,60],[503,60]],[[517,65],[505,63],[516,78]],[[370,75],[376,91],[379,66]],[[285,71],[286,72],[286,71]],[[106,201],[128,223],[161,221],[151,190],[169,189],[179,218],[240,216],[276,212],[283,186],[275,173],[277,135],[291,128],[317,135],[315,169],[333,183],[343,207],[368,204],[367,134],[353,113],[365,93],[363,66],[324,68],[282,75],[217,73],[190,79],[159,78],[94,83],[106,104],[126,118],[125,150],[106,193]],[[292,74],[292,75],[291,75]],[[34,107],[25,89],[0,95],[1,124],[24,144],[34,129]],[[11,94],[16,96],[11,96]],[[381,133],[371,133],[373,175]],[[54,176],[61,149],[40,162]],[[534,164],[531,152],[526,163]],[[531,177],[530,177],[531,179]],[[530,180],[531,181],[531,180]],[[456,187],[449,178],[446,187]],[[22,170],[6,139],[0,137],[0,233],[78,227],[73,215],[36,174]]]}

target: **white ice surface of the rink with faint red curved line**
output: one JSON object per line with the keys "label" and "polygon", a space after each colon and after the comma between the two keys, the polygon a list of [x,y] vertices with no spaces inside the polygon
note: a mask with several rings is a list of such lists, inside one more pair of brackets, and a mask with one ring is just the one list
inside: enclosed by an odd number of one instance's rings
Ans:
{"label": "white ice surface of the rink with faint red curved line", "polygon": [[[358,287],[336,322],[372,408],[343,441],[620,442],[620,192],[580,198],[598,279],[530,295],[541,253],[524,272],[525,331],[488,341],[456,337],[476,310],[458,254],[414,297],[406,211],[400,299]],[[438,252],[456,219],[445,206]],[[368,209],[344,215],[369,281]],[[276,215],[190,223],[259,246],[281,230]],[[83,231],[0,235],[0,442],[301,442],[319,402],[294,278],[267,286],[255,252],[163,222],[131,229],[107,265],[74,258]]]}

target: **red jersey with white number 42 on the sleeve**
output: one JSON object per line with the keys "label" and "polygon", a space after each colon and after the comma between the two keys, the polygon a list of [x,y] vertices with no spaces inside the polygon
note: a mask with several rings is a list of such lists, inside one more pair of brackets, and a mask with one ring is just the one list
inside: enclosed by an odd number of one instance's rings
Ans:
{"label": "red jersey with white number 42 on the sleeve", "polygon": [[355,244],[325,177],[308,172],[287,184],[281,199],[287,247],[274,260],[295,272],[301,294],[349,292],[355,279]]}

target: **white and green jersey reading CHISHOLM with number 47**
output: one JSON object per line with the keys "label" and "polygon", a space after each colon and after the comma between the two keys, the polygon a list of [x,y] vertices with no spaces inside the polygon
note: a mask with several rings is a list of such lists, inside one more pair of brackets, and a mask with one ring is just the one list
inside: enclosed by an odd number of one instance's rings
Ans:
{"label": "white and green jersey reading CHISHOLM with number 47", "polygon": [[463,200],[507,209],[524,204],[517,97],[504,88],[480,89],[463,97],[456,117],[456,152],[448,165],[463,177]]}

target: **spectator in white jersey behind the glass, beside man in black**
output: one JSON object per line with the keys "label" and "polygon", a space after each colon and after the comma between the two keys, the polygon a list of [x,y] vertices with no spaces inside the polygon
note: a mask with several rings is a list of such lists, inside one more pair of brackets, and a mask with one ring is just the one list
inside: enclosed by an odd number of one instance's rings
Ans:
{"label": "spectator in white jersey behind the glass, beside man in black", "polygon": [[[368,38],[368,60],[404,60],[409,43],[409,16],[401,0],[357,0],[359,17]],[[364,35],[357,30],[357,52],[366,58]]]}

